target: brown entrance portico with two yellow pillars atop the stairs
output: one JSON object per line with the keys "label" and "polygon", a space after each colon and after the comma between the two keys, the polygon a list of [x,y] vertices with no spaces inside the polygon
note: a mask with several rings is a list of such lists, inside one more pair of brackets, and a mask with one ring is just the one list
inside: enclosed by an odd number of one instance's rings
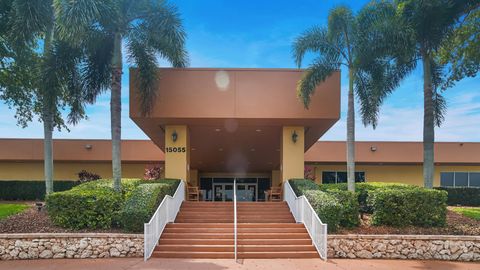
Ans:
{"label": "brown entrance portico with two yellow pillars atop the stairs", "polygon": [[[310,109],[296,97],[297,69],[159,69],[157,98],[140,114],[136,72],[130,117],[165,153],[165,176],[185,179],[206,200],[229,200],[232,179],[245,200],[303,178],[304,152],[340,116],[340,76],[319,85]],[[239,183],[240,184],[240,183]],[[238,194],[237,194],[238,195]]]}

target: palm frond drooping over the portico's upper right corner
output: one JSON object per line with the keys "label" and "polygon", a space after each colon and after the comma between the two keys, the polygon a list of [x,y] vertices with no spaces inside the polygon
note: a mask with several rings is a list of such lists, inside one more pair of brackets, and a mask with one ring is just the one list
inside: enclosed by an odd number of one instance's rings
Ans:
{"label": "palm frond drooping over the portico's upper right corner", "polygon": [[338,54],[324,55],[316,58],[305,70],[297,83],[297,97],[303,102],[305,108],[308,109],[315,88],[338,70],[340,64]]}

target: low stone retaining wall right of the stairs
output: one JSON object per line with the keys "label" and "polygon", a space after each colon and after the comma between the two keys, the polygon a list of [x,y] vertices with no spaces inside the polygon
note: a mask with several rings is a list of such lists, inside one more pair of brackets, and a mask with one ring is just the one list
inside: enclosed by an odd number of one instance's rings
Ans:
{"label": "low stone retaining wall right of the stairs", "polygon": [[480,236],[329,235],[328,257],[480,261]]}

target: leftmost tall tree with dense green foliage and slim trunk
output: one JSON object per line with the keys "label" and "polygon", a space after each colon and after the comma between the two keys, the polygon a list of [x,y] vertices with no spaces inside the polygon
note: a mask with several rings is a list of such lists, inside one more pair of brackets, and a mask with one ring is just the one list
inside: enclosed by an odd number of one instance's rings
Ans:
{"label": "leftmost tall tree with dense green foliage and slim trunk", "polygon": [[[2,65],[1,98],[17,109],[25,127],[38,115],[44,129],[46,193],[53,191],[53,130],[67,128],[62,109],[70,107],[68,123],[84,114],[80,80],[81,50],[69,46],[56,31],[53,0],[2,0],[2,48],[8,60]],[[3,59],[4,60],[4,59]]]}

